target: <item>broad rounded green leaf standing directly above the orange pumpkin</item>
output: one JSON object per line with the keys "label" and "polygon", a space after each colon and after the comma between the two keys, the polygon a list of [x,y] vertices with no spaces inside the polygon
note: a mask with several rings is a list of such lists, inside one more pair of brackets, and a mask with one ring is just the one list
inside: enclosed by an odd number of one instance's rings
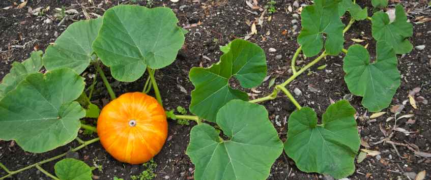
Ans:
{"label": "broad rounded green leaf standing directly above the orange pumpkin", "polygon": [[135,81],[147,66],[160,69],[175,61],[184,44],[177,22],[169,8],[116,6],[103,15],[93,48],[115,79]]}

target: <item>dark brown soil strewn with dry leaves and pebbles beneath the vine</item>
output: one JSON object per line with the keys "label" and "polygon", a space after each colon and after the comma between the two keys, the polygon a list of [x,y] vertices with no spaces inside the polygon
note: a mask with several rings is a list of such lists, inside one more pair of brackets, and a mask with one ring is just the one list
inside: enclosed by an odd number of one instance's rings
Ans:
{"label": "dark brown soil strewn with dry leaves and pebbles beneath the vine", "polygon": [[[90,3],[89,3],[90,2]],[[259,5],[264,6],[267,1],[258,1]],[[276,1],[277,12],[271,15],[265,15],[265,21],[262,26],[257,26],[258,35],[254,35],[249,41],[260,45],[267,54],[268,62],[268,75],[277,77],[276,83],[281,83],[287,79],[289,73],[290,60],[298,47],[296,37],[301,29],[300,23],[293,24],[293,14],[297,8],[293,7],[294,12],[289,11],[289,6],[294,1],[284,0]],[[358,0],[358,4],[362,7],[371,7],[370,1]],[[399,1],[390,1],[399,2]],[[20,4],[18,0],[3,0],[0,2],[0,8],[5,8],[13,5],[13,3]],[[29,1],[22,9],[11,8],[9,10],[0,9],[0,79],[7,74],[11,68],[12,62],[23,61],[30,56],[30,52],[34,49],[44,50],[49,43],[54,42],[55,35],[60,35],[67,25],[73,21],[66,21],[63,25],[57,26],[60,22],[54,19],[56,13],[55,8],[64,6],[66,10],[75,9],[80,14],[74,20],[84,19],[82,13],[83,8],[87,13],[96,13],[102,15],[104,10],[109,7],[131,3],[128,1],[114,1],[114,0],[33,0]],[[186,35],[186,42],[182,50],[180,50],[177,61],[170,66],[163,68],[157,72],[156,78],[158,79],[159,87],[161,88],[161,95],[164,99],[166,109],[173,109],[177,106],[188,107],[190,104],[190,92],[194,88],[188,80],[188,71],[192,67],[208,67],[213,63],[218,62],[221,55],[218,46],[224,45],[227,42],[244,37],[250,32],[250,23],[261,16],[261,11],[250,9],[244,1],[240,0],[180,0],[179,3],[172,3],[170,1],[154,1],[154,6],[166,6],[174,9],[177,17],[180,20],[181,26],[189,26],[190,24],[202,23],[200,25],[192,25],[189,27],[190,33]],[[391,7],[393,7],[391,3]],[[430,17],[431,9],[426,9],[426,1],[406,1],[401,3],[409,12],[409,19],[416,22],[415,18],[420,16]],[[310,1],[301,0],[299,4],[310,4]],[[139,5],[146,6],[147,2],[139,2]],[[28,15],[27,10],[31,7],[33,9],[42,7],[47,8],[43,16]],[[369,8],[370,9],[370,8]],[[247,10],[247,11],[246,11]],[[250,13],[255,12],[255,14]],[[371,14],[370,14],[371,15]],[[93,15],[91,15],[93,17]],[[271,16],[269,21],[268,17]],[[50,18],[51,23],[46,23],[46,19]],[[94,18],[94,17],[93,17]],[[343,22],[347,23],[349,17],[344,17]],[[44,22],[45,21],[45,22]],[[298,19],[300,22],[300,19]],[[425,49],[414,49],[411,53],[399,58],[398,69],[403,75],[401,86],[399,87],[396,95],[393,98],[392,104],[403,104],[408,100],[409,91],[415,87],[421,87],[420,93],[416,97],[422,96],[424,99],[431,101],[431,21],[425,23],[414,24],[414,35],[410,39],[414,46],[425,45]],[[248,23],[248,24],[247,24]],[[296,25],[296,29],[294,29]],[[354,42],[352,38],[364,39],[366,41],[360,44],[368,45],[371,56],[374,56],[375,42],[372,41],[370,22],[367,20],[356,22],[350,31],[345,35],[347,49]],[[269,52],[269,48],[275,48],[275,52]],[[278,58],[277,58],[278,56]],[[281,58],[279,58],[281,56]],[[344,83],[342,71],[342,57],[330,57],[315,65],[310,69],[310,73],[304,73],[289,85],[291,92],[298,88],[302,95],[295,96],[298,102],[303,106],[310,106],[317,111],[318,114],[323,114],[325,109],[330,105],[331,100],[338,101],[345,95],[349,94],[349,90]],[[301,58],[298,66],[305,65],[311,61],[312,58]],[[324,70],[319,70],[317,67],[327,64]],[[83,77],[88,78],[89,74],[94,73],[94,69],[89,68],[84,72]],[[106,73],[109,71],[106,69]],[[110,78],[114,91],[117,95],[141,91],[142,84],[146,80],[146,75],[133,83],[119,83],[118,81]],[[257,91],[262,93],[254,93],[249,91],[255,98],[266,96],[272,92],[272,87],[268,88],[269,80],[265,81],[260,87],[256,88]],[[187,94],[180,91],[180,86],[183,86]],[[93,98],[94,103],[103,107],[108,102],[108,96],[105,91],[101,80],[97,84],[98,92]],[[248,90],[247,90],[248,91]],[[390,108],[386,109],[388,113],[378,117],[377,119],[369,120],[367,117],[370,113],[361,106],[361,97],[354,96],[351,99],[351,104],[358,111],[358,129],[362,139],[372,149],[381,152],[379,157],[367,157],[363,162],[356,163],[356,172],[349,176],[350,179],[408,179],[405,175],[406,172],[418,173],[426,170],[427,176],[425,179],[431,178],[431,159],[420,156],[415,156],[412,151],[404,146],[396,146],[399,154],[403,158],[399,158],[395,149],[389,143],[380,143],[372,145],[384,138],[384,134],[380,130],[389,131],[394,126],[393,119],[386,122],[386,119],[394,114],[390,112]],[[263,103],[270,114],[271,122],[279,132],[280,138],[285,141],[286,139],[286,120],[289,114],[295,109],[294,106],[286,98],[277,98],[274,101]],[[430,153],[431,144],[431,104],[423,104],[417,102],[418,108],[414,109],[407,103],[406,107],[400,113],[414,114],[410,122],[415,121],[413,124],[408,124],[408,118],[399,119],[397,126],[404,128],[408,131],[415,131],[408,136],[404,133],[394,131],[392,141],[399,143],[412,143],[416,144],[420,151]],[[321,115],[318,115],[319,117]],[[400,115],[398,115],[400,116]],[[95,123],[94,119],[87,119],[88,123]],[[189,132],[192,126],[178,125],[175,121],[169,120],[168,139],[162,151],[154,158],[158,164],[155,173],[156,179],[192,179],[194,165],[190,159],[185,155],[186,147],[189,141]],[[96,135],[79,134],[82,139],[92,139]],[[0,140],[0,162],[5,164],[10,170],[20,169],[27,165],[39,162],[41,160],[62,154],[69,149],[78,146],[79,143],[73,141],[63,147],[54,149],[51,152],[43,154],[32,154],[22,151],[22,149],[12,141]],[[365,148],[365,147],[361,147]],[[90,166],[101,165],[101,170],[94,170],[94,179],[112,179],[114,176],[124,179],[130,179],[131,175],[136,175],[145,170],[141,165],[129,165],[120,163],[114,160],[107,154],[100,143],[96,142],[78,151],[78,153],[70,154],[70,157],[75,157],[85,161]],[[53,166],[55,162],[50,162],[42,165],[44,169],[53,173]],[[0,177],[6,175],[6,172],[0,170]],[[304,173],[299,171],[294,162],[288,158],[284,153],[276,160],[272,169],[271,175],[268,179],[331,179],[330,177],[323,176],[315,173]],[[414,179],[413,177],[410,177]],[[16,174],[12,179],[49,179],[45,174],[37,169],[30,169],[19,174]]]}

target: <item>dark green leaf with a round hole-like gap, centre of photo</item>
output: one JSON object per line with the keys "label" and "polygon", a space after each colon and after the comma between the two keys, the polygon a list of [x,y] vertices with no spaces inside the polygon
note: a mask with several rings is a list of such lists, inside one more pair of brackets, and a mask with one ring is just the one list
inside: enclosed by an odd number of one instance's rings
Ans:
{"label": "dark green leaf with a round hole-like gap, centre of photo", "polygon": [[195,86],[191,93],[190,112],[216,121],[218,109],[233,99],[248,100],[248,95],[229,86],[235,77],[242,87],[251,88],[262,83],[267,73],[265,52],[244,40],[234,40],[220,62],[210,68],[192,68],[190,80]]}

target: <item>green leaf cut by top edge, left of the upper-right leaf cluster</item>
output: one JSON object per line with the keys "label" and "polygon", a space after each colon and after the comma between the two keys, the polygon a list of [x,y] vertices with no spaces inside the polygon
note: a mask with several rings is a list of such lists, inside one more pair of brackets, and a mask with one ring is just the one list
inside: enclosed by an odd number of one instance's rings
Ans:
{"label": "green leaf cut by top edge, left of the upper-right leaf cluster", "polygon": [[343,48],[342,30],[344,24],[339,17],[341,0],[315,0],[314,5],[302,10],[302,30],[298,43],[308,57],[317,55],[323,48],[323,34],[326,35],[325,50],[327,54],[337,55]]}

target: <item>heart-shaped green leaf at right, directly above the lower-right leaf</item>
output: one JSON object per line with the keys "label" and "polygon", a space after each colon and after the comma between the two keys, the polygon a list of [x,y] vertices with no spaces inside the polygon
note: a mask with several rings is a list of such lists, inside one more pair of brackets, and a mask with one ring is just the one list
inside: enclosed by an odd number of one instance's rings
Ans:
{"label": "heart-shaped green leaf at right, directly above the lower-right leaf", "polygon": [[395,52],[382,41],[377,43],[373,63],[363,46],[352,45],[344,57],[343,70],[350,92],[362,96],[362,105],[371,112],[387,108],[401,82]]}

